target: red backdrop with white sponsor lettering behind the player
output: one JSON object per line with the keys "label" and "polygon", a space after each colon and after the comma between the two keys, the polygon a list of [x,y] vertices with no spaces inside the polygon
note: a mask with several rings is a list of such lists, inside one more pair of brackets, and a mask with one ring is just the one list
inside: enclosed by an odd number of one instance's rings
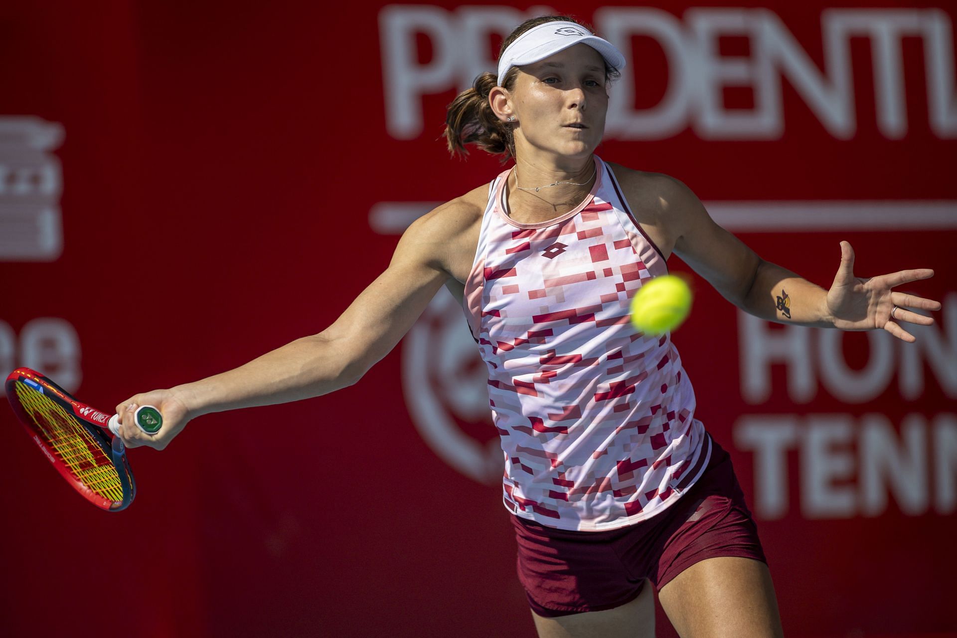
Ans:
{"label": "red backdrop with white sponsor lettering behind the player", "polygon": [[[906,287],[945,302],[913,346],[754,321],[701,279],[675,341],[789,635],[957,631],[957,12],[737,4],[553,9],[628,49],[603,158],[679,177],[818,284],[840,239],[858,276],[937,271]],[[0,9],[2,370],[110,409],[322,330],[410,218],[499,170],[437,138],[527,8]],[[0,410],[4,632],[93,635],[93,603],[135,636],[533,635],[456,312],[339,393],[133,450],[120,514]]]}

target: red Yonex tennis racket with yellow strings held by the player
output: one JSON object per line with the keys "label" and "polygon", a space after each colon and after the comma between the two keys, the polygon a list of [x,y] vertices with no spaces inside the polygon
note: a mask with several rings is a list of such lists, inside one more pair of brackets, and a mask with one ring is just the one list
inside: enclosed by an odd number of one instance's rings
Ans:
{"label": "red Yonex tennis racket with yellow strings held by the player", "polygon": [[[107,512],[119,512],[133,502],[136,481],[118,436],[119,415],[110,417],[80,403],[30,368],[14,370],[6,390],[30,438],[67,483]],[[163,417],[151,405],[137,409],[135,420],[147,434],[163,425]]]}

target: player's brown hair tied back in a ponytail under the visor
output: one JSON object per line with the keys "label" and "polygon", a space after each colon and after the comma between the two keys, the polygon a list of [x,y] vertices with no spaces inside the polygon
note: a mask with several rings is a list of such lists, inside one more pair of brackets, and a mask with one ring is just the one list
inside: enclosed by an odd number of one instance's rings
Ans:
{"label": "player's brown hair tied back in a ponytail under the visor", "polygon": [[[525,20],[515,28],[501,43],[499,58],[515,39],[533,27],[545,22],[574,22],[594,33],[590,25],[576,20],[568,15],[542,15]],[[505,74],[501,82],[503,88],[511,91],[515,88],[515,78],[519,75],[519,67],[513,66]],[[605,62],[605,80],[618,78],[621,74],[617,69]],[[486,71],[477,76],[472,88],[466,89],[456,96],[446,107],[445,131],[442,136],[446,139],[449,152],[452,155],[468,155],[466,144],[474,144],[487,153],[501,154],[501,163],[515,157],[515,138],[512,135],[512,126],[501,122],[488,102],[488,95],[499,83],[498,74]]]}

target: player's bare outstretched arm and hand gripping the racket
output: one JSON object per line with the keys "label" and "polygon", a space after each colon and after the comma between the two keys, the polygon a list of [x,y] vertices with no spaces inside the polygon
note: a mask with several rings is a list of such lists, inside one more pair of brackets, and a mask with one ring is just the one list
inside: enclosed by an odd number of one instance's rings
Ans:
{"label": "player's bare outstretched arm and hand gripping the racket", "polygon": [[[164,425],[148,437],[123,418],[129,445],[162,449],[197,416],[328,394],[355,383],[408,331],[449,278],[445,263],[461,219],[450,202],[422,216],[399,240],[389,267],[319,334],[305,336],[229,372],[169,390],[135,395],[117,406],[153,404]],[[449,217],[453,217],[450,222]]]}

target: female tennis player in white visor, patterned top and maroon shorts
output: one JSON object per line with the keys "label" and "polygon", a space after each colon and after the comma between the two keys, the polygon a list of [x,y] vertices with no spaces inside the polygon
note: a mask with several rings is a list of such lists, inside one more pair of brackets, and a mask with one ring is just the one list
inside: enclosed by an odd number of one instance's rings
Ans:
{"label": "female tennis player in white visor, patterned top and maroon shorts", "polygon": [[[774,589],[730,459],[695,419],[670,336],[630,325],[634,291],[680,256],[723,296],[782,323],[883,329],[940,304],[893,291],[933,275],[854,276],[841,242],[829,290],[766,262],[684,184],[594,154],[625,59],[566,16],[523,23],[449,106],[450,150],[515,160],[491,184],[419,218],[389,268],[328,329],[222,375],[117,406],[130,447],[164,448],[210,412],[316,397],[355,383],[442,285],[488,367],[505,453],[503,500],[538,633],[651,636],[652,587],[681,636],[779,636]],[[137,404],[163,412],[148,436]]]}

